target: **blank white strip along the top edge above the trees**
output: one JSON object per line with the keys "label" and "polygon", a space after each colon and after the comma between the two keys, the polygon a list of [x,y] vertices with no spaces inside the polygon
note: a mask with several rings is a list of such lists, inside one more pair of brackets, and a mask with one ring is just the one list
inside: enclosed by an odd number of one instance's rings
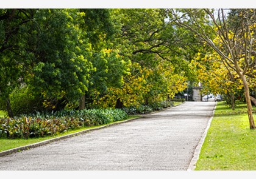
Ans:
{"label": "blank white strip along the top edge above the trees", "polygon": [[255,8],[251,0],[8,0],[1,8]]}

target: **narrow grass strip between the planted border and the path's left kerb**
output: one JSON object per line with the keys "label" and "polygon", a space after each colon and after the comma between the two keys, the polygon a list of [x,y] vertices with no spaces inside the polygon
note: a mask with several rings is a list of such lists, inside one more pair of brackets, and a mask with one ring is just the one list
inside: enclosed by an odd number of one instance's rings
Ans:
{"label": "narrow grass strip between the planted border and the path's left kerb", "polygon": [[[132,119],[138,118],[138,117],[139,117],[138,115],[130,115],[128,120],[132,120]],[[119,123],[119,122],[121,122],[121,121],[117,121],[117,122],[114,122],[114,123]],[[109,123],[109,124],[111,124],[111,123]],[[106,125],[109,125],[109,124],[105,124],[105,125],[101,125],[101,126],[106,126]],[[3,152],[5,150],[9,150],[9,149],[14,149],[16,147],[21,147],[21,146],[26,146],[26,145],[29,145],[29,144],[38,143],[38,142],[45,141],[45,140],[50,140],[52,138],[62,137],[62,136],[65,136],[65,135],[76,133],[76,132],[81,132],[83,130],[88,130],[88,129],[101,127],[101,126],[84,127],[82,129],[77,129],[77,130],[72,130],[72,131],[68,131],[68,132],[65,132],[65,133],[60,133],[59,135],[54,135],[54,136],[51,136],[51,137],[29,138],[27,140],[26,139],[13,139],[13,140],[12,139],[0,139],[0,152]]]}

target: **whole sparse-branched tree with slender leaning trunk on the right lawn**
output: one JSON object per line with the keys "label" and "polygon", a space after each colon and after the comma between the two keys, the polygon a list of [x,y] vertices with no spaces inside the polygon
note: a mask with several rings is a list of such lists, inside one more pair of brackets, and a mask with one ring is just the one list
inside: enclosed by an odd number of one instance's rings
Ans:
{"label": "whole sparse-branched tree with slender leaning trunk on the right lawn", "polygon": [[[243,9],[238,15],[236,25],[227,23],[227,13],[224,9],[185,9],[169,10],[169,16],[180,27],[190,30],[197,39],[215,50],[220,61],[227,68],[234,70],[243,81],[247,104],[247,114],[250,129],[255,129],[249,85],[246,73],[255,66],[254,30],[255,10]],[[212,32],[212,33],[210,33]],[[214,36],[211,36],[211,35]]]}

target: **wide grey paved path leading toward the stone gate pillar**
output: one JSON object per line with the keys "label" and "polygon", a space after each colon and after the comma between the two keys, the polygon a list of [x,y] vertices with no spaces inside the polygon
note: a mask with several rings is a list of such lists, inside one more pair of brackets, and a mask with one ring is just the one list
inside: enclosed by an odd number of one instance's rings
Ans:
{"label": "wide grey paved path leading toward the stone gate pillar", "polygon": [[214,102],[186,102],[143,118],[0,157],[0,170],[187,171]]}

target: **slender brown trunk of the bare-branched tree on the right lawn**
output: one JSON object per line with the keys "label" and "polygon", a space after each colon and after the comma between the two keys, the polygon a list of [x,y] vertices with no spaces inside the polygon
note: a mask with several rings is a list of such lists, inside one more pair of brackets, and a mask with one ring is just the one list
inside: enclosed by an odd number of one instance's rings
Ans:
{"label": "slender brown trunk of the bare-branched tree on the right lawn", "polygon": [[251,103],[251,98],[250,98],[250,90],[249,86],[247,84],[245,76],[240,73],[240,78],[243,81],[244,84],[244,94],[246,98],[246,104],[247,104],[247,113],[248,113],[248,118],[249,118],[249,124],[250,124],[250,129],[255,129],[255,124],[254,124],[254,116],[252,113],[252,103]]}

